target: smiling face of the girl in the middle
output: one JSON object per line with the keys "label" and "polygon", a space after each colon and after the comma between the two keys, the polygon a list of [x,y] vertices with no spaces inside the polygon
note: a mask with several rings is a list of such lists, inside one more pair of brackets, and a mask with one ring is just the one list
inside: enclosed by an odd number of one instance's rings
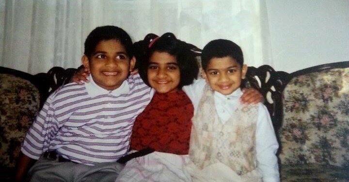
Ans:
{"label": "smiling face of the girl in the middle", "polygon": [[167,52],[154,52],[147,68],[148,82],[159,93],[178,91],[180,80],[176,58]]}

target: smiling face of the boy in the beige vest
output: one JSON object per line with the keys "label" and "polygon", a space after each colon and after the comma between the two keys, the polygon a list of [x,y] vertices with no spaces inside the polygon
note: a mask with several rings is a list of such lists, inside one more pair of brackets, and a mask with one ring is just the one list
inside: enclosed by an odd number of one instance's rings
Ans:
{"label": "smiling face of the boy in the beige vest", "polygon": [[229,95],[240,87],[241,79],[245,78],[247,66],[241,66],[230,56],[212,58],[205,70],[206,82],[214,91]]}

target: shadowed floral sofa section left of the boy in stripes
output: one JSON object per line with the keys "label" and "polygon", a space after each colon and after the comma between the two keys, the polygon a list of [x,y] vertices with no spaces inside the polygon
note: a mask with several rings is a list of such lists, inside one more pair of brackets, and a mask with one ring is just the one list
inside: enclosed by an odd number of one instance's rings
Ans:
{"label": "shadowed floral sofa section left of the boy in stripes", "polygon": [[0,67],[0,182],[13,181],[20,146],[36,112],[74,70],[54,67],[33,76]]}

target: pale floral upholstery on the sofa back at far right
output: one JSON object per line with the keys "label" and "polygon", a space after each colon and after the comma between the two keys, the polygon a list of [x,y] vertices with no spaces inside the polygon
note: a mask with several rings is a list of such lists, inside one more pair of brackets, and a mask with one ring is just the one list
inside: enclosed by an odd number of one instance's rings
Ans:
{"label": "pale floral upholstery on the sofa back at far right", "polygon": [[[335,167],[347,171],[335,179],[349,180],[349,68],[294,77],[284,90],[283,104],[279,157],[284,180],[292,176],[290,167],[304,165],[316,168],[309,174],[317,182]],[[320,170],[321,166],[330,171]],[[327,175],[329,179],[331,175]],[[302,178],[297,179],[293,181]]]}

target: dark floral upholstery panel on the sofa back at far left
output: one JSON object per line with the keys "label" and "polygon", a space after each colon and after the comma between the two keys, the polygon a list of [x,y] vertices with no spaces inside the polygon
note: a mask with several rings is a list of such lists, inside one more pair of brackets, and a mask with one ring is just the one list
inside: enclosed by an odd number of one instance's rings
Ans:
{"label": "dark floral upholstery panel on the sofa back at far left", "polygon": [[39,91],[28,80],[0,74],[1,169],[15,167],[24,136],[39,108]]}

